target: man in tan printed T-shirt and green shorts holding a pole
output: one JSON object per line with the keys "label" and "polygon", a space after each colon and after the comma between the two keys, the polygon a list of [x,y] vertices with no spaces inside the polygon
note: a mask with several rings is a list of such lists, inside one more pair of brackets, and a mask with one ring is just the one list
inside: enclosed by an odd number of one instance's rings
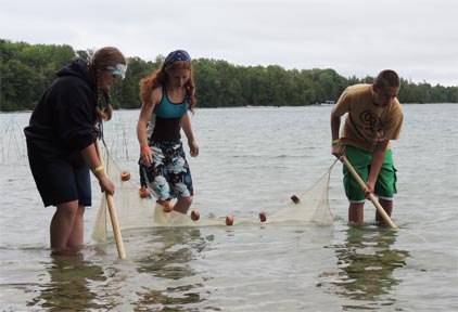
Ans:
{"label": "man in tan printed T-shirt and green shorts holding a pole", "polygon": [[[403,110],[396,96],[399,77],[393,70],[383,70],[372,84],[348,87],[331,113],[332,154],[346,155],[360,178],[366,182],[361,190],[344,166],[344,186],[349,200],[348,221],[364,222],[364,204],[374,193],[380,205],[391,216],[396,193],[396,169],[390,140],[399,136]],[[342,132],[341,117],[347,114]],[[383,219],[379,213],[377,221]]]}

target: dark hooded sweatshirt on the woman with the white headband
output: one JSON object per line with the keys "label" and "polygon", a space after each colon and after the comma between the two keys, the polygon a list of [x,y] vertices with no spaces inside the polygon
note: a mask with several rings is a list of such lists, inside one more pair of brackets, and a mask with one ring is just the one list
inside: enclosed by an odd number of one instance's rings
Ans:
{"label": "dark hooded sweatshirt on the woman with the white headband", "polygon": [[24,129],[29,148],[61,158],[96,142],[96,88],[86,68],[77,60],[58,73]]}

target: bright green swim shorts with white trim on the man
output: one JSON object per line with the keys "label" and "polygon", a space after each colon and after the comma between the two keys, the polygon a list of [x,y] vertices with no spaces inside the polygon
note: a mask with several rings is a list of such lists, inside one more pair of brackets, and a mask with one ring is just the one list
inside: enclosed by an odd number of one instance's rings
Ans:
{"label": "bright green swim shorts with white trim on the man", "polygon": [[[355,146],[345,145],[345,155],[362,181],[366,182],[369,178],[372,153]],[[362,203],[366,199],[366,195],[345,166],[343,166],[343,174],[345,194],[348,200],[351,203]],[[393,195],[397,193],[396,181],[396,168],[393,166],[393,153],[389,150],[386,151],[385,159],[383,159],[383,165],[380,169],[373,194],[379,198],[392,200]]]}

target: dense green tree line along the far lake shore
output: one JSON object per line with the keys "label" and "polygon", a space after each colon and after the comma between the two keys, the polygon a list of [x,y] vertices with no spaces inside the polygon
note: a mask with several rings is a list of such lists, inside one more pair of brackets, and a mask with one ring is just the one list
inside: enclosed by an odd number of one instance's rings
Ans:
{"label": "dense green tree line along the far lake shore", "polygon": [[[0,39],[0,112],[30,110],[71,60],[89,61],[94,51],[63,44],[29,44]],[[115,108],[139,108],[139,81],[160,68],[164,55],[154,61],[128,58],[126,78],[112,87]],[[303,106],[336,101],[351,84],[371,83],[365,78],[339,75],[327,69],[284,69],[279,65],[238,66],[221,60],[192,61],[198,107]],[[400,103],[458,103],[458,87],[412,83],[400,79]]]}

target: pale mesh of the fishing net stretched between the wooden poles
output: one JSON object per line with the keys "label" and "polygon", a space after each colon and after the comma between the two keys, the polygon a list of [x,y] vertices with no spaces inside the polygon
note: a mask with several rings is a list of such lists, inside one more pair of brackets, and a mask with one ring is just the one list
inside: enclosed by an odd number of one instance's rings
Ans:
{"label": "pale mesh of the fishing net stretched between the wooden poles", "polygon": [[[104,155],[106,173],[116,187],[113,202],[120,231],[154,226],[212,226],[226,224],[226,221],[221,219],[200,218],[194,221],[189,214],[175,211],[164,212],[164,207],[156,204],[154,198],[140,197],[139,185],[136,185],[130,180],[123,181],[123,170],[120,170],[110,153],[106,153],[106,150],[104,150]],[[285,207],[270,213],[265,223],[300,221],[332,224],[333,217],[329,207],[328,191],[331,169],[334,165],[335,161],[310,188],[298,196],[296,203],[291,202]],[[259,219],[240,219],[234,224],[243,222],[260,221]],[[113,226],[107,212],[105,196],[102,196],[92,231],[92,239],[106,242],[107,237],[111,236],[113,236]]]}

